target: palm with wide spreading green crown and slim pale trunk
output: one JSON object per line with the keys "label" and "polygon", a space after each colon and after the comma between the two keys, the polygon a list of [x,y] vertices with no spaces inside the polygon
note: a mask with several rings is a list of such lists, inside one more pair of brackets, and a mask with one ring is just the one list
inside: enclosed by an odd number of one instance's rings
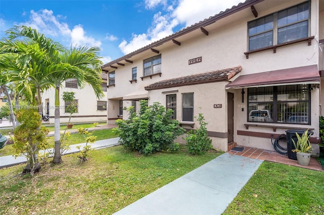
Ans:
{"label": "palm with wide spreading green crown and slim pale trunk", "polygon": [[[20,92],[27,97],[37,95],[38,108],[42,104],[42,92],[50,87],[55,88],[55,149],[54,163],[61,163],[60,142],[60,87],[69,78],[76,78],[78,86],[89,84],[95,95],[103,96],[101,88],[101,65],[98,47],[63,47],[46,38],[34,29],[18,26],[7,31],[10,40],[4,42],[4,52],[10,52],[3,68],[14,71],[11,81],[18,83]],[[24,38],[24,40],[20,39]],[[1,44],[0,44],[1,45]],[[2,52],[0,50],[0,53]],[[12,59],[9,59],[12,58]],[[1,57],[0,57],[1,60]],[[1,68],[1,63],[0,63]]]}

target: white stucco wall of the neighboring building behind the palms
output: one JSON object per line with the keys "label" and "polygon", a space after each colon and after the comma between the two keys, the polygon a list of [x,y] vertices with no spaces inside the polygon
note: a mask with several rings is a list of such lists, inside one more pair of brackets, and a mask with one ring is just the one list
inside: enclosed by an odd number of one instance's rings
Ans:
{"label": "white stucco wall of the neighboring building behind the palms", "polygon": [[[65,85],[65,84],[63,84]],[[71,122],[98,122],[107,120],[107,111],[97,111],[97,101],[107,101],[107,92],[104,92],[104,97],[97,99],[94,90],[91,86],[86,85],[83,89],[65,88],[60,89],[60,122],[67,123],[69,113],[64,111],[64,101],[62,99],[63,92],[75,92],[75,99],[78,100],[78,112],[72,114]],[[42,95],[44,113],[46,113],[46,99],[50,102],[50,123],[54,123],[55,111],[55,90],[49,89]]]}

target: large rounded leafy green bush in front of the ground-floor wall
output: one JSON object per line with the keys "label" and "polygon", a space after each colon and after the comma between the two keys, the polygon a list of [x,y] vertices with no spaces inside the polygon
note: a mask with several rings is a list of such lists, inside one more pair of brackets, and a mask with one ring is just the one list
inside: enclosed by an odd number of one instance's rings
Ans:
{"label": "large rounded leafy green bush in front of the ground-floor wall", "polygon": [[141,100],[140,106],[138,115],[131,107],[128,120],[116,120],[118,128],[113,130],[120,137],[119,142],[146,155],[168,150],[176,137],[184,133],[179,122],[170,119],[173,111],[166,110],[159,102],[147,106],[146,100]]}

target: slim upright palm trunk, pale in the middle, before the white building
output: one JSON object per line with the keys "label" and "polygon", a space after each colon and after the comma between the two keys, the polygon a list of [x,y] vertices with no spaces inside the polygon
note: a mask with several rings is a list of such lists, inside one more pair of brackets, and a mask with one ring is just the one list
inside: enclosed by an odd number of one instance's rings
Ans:
{"label": "slim upright palm trunk, pale in the middle, before the white building", "polygon": [[60,87],[55,88],[55,113],[54,113],[54,164],[62,162],[60,141]]}

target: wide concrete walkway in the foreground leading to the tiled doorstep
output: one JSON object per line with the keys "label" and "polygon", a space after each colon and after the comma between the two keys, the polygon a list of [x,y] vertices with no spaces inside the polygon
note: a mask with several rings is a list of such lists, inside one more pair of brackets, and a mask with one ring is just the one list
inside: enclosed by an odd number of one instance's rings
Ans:
{"label": "wide concrete walkway in the foreground leading to the tiled doorstep", "polygon": [[224,153],[114,214],[222,214],[262,162]]}

